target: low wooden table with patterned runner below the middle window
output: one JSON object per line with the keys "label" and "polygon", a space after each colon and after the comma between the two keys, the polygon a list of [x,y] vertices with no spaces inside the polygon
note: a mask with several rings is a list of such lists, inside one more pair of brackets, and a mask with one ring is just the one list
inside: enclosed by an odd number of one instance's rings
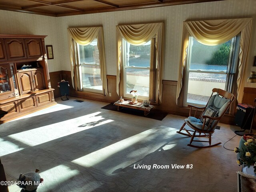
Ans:
{"label": "low wooden table with patterned runner below the middle window", "polygon": [[117,106],[117,110],[119,111],[119,107],[126,107],[126,108],[132,108],[137,110],[144,111],[144,116],[148,115],[150,113],[150,110],[154,108],[154,106],[144,106],[143,103],[137,102],[136,104],[129,104],[131,101],[124,101],[124,102],[115,102],[114,105]]}

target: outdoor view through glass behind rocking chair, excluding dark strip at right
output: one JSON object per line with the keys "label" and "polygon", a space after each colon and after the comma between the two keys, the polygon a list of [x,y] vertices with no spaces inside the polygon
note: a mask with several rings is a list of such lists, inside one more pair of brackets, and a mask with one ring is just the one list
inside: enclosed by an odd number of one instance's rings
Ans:
{"label": "outdoor view through glass behind rocking chair, excluding dark strip at right", "polygon": [[213,88],[225,90],[231,40],[207,46],[190,37],[186,103],[206,104]]}

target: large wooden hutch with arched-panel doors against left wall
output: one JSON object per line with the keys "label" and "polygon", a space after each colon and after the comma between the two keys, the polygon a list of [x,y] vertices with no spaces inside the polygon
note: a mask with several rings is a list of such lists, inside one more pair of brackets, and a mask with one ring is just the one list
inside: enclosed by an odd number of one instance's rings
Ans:
{"label": "large wooden hutch with arched-panel doors against left wall", "polygon": [[0,34],[0,124],[53,104],[43,35]]}

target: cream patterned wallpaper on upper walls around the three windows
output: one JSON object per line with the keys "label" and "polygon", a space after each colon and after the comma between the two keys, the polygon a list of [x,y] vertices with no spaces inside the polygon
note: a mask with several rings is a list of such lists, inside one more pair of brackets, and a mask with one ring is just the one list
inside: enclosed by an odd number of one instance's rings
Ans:
{"label": "cream patterned wallpaper on upper walls around the three windows", "polygon": [[[253,18],[253,29],[246,71],[256,55],[256,0],[226,0],[140,10],[118,11],[54,18],[9,11],[0,11],[0,33],[45,34],[46,44],[53,45],[54,60],[49,60],[50,72],[70,70],[68,27],[99,26],[104,28],[107,74],[116,75],[116,31],[118,24],[148,22],[165,23],[164,80],[177,80],[181,52],[182,26],[185,20],[222,18]],[[254,85],[245,84],[253,87]],[[255,87],[255,86],[254,86]]]}

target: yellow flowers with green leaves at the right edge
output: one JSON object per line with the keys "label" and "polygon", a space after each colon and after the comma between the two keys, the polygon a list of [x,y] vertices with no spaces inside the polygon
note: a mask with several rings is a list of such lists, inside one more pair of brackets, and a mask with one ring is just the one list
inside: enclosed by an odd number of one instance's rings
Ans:
{"label": "yellow flowers with green leaves at the right edge", "polygon": [[248,168],[254,166],[254,173],[256,174],[256,135],[248,134],[243,138],[246,138],[246,142],[234,149],[234,152],[238,153],[236,162],[239,166],[245,165]]}

